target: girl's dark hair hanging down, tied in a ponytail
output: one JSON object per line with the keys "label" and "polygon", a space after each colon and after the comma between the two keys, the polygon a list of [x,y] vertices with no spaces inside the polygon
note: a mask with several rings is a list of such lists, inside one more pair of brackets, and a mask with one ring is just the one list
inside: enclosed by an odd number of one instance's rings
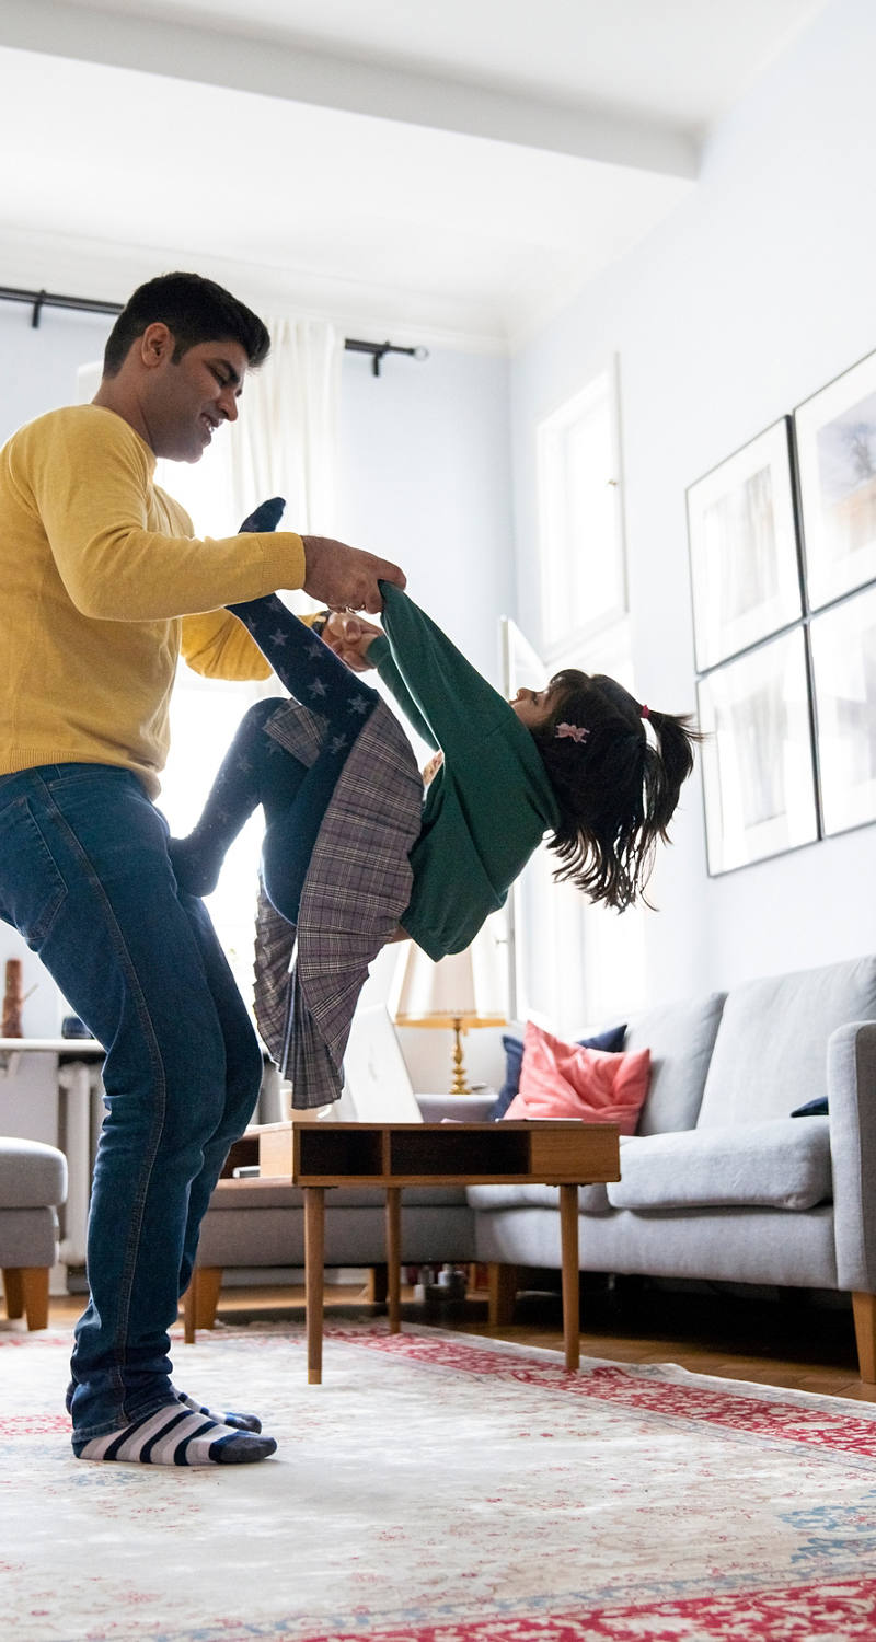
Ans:
{"label": "girl's dark hair hanging down, tied in a ponytail", "polygon": [[[702,736],[687,716],[649,708],[654,745],[639,703],[602,673],[564,668],[549,691],[551,718],[533,736],[560,810],[549,841],[560,860],[554,877],[623,911],[644,900],[657,839],[667,842]],[[587,734],[557,736],[562,724]]]}

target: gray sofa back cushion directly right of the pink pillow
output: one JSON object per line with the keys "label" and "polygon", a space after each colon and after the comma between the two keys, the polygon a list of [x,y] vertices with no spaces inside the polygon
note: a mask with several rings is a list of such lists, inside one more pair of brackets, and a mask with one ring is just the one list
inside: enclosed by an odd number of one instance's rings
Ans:
{"label": "gray sofa back cushion directly right of the pink pillow", "polygon": [[639,1135],[689,1130],[700,1100],[722,1018],[723,992],[648,1010],[626,1028],[625,1049],[651,1049],[651,1084]]}

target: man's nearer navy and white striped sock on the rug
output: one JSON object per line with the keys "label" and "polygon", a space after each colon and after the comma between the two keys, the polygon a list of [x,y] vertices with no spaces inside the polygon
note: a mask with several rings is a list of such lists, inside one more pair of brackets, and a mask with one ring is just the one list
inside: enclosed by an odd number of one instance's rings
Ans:
{"label": "man's nearer navy and white striped sock on the rug", "polygon": [[74,1437],[72,1452],[77,1460],[125,1460],[130,1465],[255,1465],[276,1452],[276,1442],[171,1402],[118,1432],[87,1442]]}

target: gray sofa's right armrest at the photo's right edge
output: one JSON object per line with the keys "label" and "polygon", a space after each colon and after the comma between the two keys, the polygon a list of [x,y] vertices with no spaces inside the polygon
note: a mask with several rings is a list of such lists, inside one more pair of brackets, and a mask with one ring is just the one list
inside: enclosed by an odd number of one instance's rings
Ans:
{"label": "gray sofa's right armrest at the photo's right edge", "polygon": [[[876,1292],[876,1021],[850,1021],[827,1046],[830,1159],[840,1289]],[[805,1121],[805,1120],[802,1120]]]}

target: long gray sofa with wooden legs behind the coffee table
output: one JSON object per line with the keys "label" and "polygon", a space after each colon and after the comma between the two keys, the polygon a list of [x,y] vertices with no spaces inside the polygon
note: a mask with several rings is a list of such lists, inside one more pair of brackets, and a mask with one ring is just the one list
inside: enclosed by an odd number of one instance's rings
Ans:
{"label": "long gray sofa with wooden legs behind the coffee table", "polygon": [[[644,1048],[651,1085],[621,1179],[579,1194],[582,1269],[850,1291],[861,1378],[876,1383],[876,959],[649,1010],[625,1043]],[[483,1120],[495,1100],[417,1098],[432,1121]],[[818,1100],[827,1115],[791,1117]],[[224,1268],[301,1264],[302,1236],[294,1187],[250,1202],[243,1182],[220,1182],[189,1332],[209,1327]],[[329,1194],[325,1251],[381,1264],[376,1192]],[[509,1320],[514,1268],[560,1266],[557,1189],[406,1192],[403,1259],[488,1264],[491,1322]]]}

